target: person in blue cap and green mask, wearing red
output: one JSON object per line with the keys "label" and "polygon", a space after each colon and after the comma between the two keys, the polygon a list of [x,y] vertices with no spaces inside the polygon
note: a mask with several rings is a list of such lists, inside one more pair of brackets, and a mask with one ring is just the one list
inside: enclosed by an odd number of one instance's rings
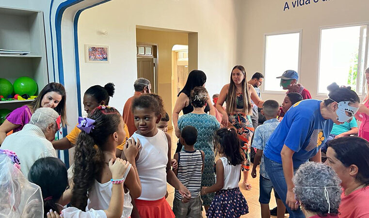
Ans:
{"label": "person in blue cap and green mask, wearing red", "polygon": [[299,75],[294,70],[286,70],[282,76],[277,77],[281,79],[280,85],[284,90],[288,90],[288,93],[299,93],[303,96],[303,99],[310,99],[311,95],[307,89],[304,88],[303,85],[297,83],[299,79]]}

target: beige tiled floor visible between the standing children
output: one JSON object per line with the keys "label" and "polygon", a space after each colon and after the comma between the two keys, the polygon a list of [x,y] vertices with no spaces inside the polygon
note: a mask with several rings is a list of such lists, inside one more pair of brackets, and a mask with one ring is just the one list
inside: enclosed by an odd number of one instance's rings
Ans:
{"label": "beige tiled floor visible between the standing children", "polygon": [[[172,156],[174,156],[174,153],[176,152],[176,142],[177,142],[177,138],[176,135],[174,134],[174,131],[172,130],[168,130],[168,133],[172,135]],[[217,159],[217,158],[216,158]],[[259,172],[259,167],[257,167],[257,172]],[[243,175],[241,173],[241,181],[243,179]],[[243,194],[243,196],[245,197],[248,205],[249,205],[249,213],[241,216],[241,218],[260,218],[261,217],[261,211],[260,211],[260,203],[259,203],[259,176],[257,173],[257,177],[255,179],[253,179],[251,177],[251,175],[249,175],[249,183],[252,186],[251,190],[245,190],[242,187],[242,183],[240,182],[240,188],[241,188],[241,192]],[[167,201],[169,202],[170,206],[173,206],[173,198],[174,198],[174,187],[167,185],[167,190],[168,190],[168,198]],[[274,194],[272,192],[272,199],[271,202],[269,203],[269,207],[273,208],[276,206],[275,203],[275,198],[274,198]],[[288,214],[286,214],[288,215]],[[203,212],[203,217],[205,218],[205,212]],[[273,218],[276,218],[274,216],[272,216]]]}

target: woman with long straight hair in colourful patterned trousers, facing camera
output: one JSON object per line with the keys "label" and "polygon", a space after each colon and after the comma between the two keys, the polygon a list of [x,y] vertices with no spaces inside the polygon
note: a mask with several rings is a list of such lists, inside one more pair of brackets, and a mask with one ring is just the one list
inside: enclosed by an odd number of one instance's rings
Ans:
{"label": "woman with long straight hair in colourful patterned trousers, facing camera", "polygon": [[[233,125],[237,129],[239,138],[243,141],[242,150],[245,155],[245,163],[242,164],[243,171],[243,187],[246,190],[251,189],[251,185],[247,183],[248,172],[250,170],[250,140],[254,133],[253,123],[250,115],[252,114],[251,100],[262,108],[262,101],[254,86],[247,83],[245,68],[241,65],[233,67],[231,72],[231,81],[226,84],[219,94],[216,108],[223,114],[222,125],[227,127],[228,124]],[[222,107],[226,102],[226,110]]]}

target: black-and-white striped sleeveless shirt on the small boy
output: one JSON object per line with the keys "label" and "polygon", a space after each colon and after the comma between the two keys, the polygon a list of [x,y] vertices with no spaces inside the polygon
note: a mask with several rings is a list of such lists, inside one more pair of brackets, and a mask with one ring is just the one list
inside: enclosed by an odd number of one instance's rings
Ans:
{"label": "black-and-white striped sleeveless shirt on the small boy", "polygon": [[[192,198],[196,198],[200,194],[202,165],[203,159],[200,150],[178,153],[177,178],[188,188]],[[178,200],[182,199],[178,190],[175,192],[175,197]]]}

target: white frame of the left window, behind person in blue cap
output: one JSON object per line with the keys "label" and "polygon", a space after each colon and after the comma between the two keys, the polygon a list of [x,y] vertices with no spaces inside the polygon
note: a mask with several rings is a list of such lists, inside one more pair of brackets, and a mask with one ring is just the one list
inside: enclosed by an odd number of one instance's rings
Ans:
{"label": "white frame of the left window, behind person in blue cap", "polygon": [[[281,31],[281,32],[271,32],[271,33],[265,33],[264,34],[264,60],[263,60],[263,72],[264,72],[264,80],[267,78],[267,72],[265,72],[265,59],[266,59],[266,49],[267,49],[267,36],[273,36],[273,35],[284,35],[284,34],[290,34],[290,33],[299,33],[299,58],[298,58],[298,63],[297,63],[297,72],[299,74],[299,81],[301,81],[301,46],[302,46],[302,36],[303,36],[303,30],[299,29],[299,30],[295,30],[295,31]],[[288,70],[288,69],[286,69]],[[281,75],[283,74],[283,72],[281,72]],[[275,78],[276,79],[276,78]],[[271,91],[271,90],[265,90],[265,83],[263,82],[262,84],[262,93],[266,93],[266,94],[281,94],[281,95],[285,95],[286,91]]]}

